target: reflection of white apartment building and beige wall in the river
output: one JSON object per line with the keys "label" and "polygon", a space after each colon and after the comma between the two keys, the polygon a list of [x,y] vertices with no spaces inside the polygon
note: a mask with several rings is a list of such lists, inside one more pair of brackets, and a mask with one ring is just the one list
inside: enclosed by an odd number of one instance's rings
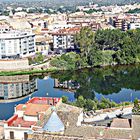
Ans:
{"label": "reflection of white apartment building and beige wall in the river", "polygon": [[0,98],[4,100],[29,95],[37,90],[37,80],[29,75],[1,76]]}

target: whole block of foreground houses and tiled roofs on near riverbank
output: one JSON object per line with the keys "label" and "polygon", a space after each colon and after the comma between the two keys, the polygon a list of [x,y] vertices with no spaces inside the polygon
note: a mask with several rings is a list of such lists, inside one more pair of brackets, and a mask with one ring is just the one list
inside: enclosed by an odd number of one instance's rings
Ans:
{"label": "whole block of foreground houses and tiled roofs on near riverbank", "polygon": [[15,107],[14,115],[5,121],[4,134],[5,139],[14,140],[129,140],[140,137],[139,120],[135,113],[132,119],[114,117],[109,127],[93,126],[94,122],[84,123],[81,108],[64,104],[60,98],[34,97]]}

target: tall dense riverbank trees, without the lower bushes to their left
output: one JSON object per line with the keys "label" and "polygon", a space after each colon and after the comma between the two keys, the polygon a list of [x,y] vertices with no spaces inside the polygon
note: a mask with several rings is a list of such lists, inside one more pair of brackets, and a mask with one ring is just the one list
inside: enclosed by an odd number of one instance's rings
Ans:
{"label": "tall dense riverbank trees, without the lower bushes to their left", "polygon": [[81,55],[87,53],[85,57],[88,65],[103,66],[140,62],[139,29],[127,32],[107,29],[98,30],[95,35],[93,34],[90,28],[83,28],[75,39],[80,46]]}

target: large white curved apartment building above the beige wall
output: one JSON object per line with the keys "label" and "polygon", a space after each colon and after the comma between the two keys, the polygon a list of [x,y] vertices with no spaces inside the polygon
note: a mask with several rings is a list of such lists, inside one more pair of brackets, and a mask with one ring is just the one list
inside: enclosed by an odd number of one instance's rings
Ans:
{"label": "large white curved apartment building above the beige wall", "polygon": [[31,31],[1,30],[0,59],[22,58],[35,54],[35,35]]}

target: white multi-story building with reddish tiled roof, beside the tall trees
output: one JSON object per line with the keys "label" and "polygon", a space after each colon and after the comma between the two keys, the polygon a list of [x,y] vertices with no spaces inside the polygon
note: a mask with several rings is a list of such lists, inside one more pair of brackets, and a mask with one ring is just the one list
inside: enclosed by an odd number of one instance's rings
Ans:
{"label": "white multi-story building with reddish tiled roof, beside the tall trees", "polygon": [[53,49],[55,52],[61,53],[68,49],[75,49],[74,35],[80,31],[79,27],[60,29],[52,33]]}

